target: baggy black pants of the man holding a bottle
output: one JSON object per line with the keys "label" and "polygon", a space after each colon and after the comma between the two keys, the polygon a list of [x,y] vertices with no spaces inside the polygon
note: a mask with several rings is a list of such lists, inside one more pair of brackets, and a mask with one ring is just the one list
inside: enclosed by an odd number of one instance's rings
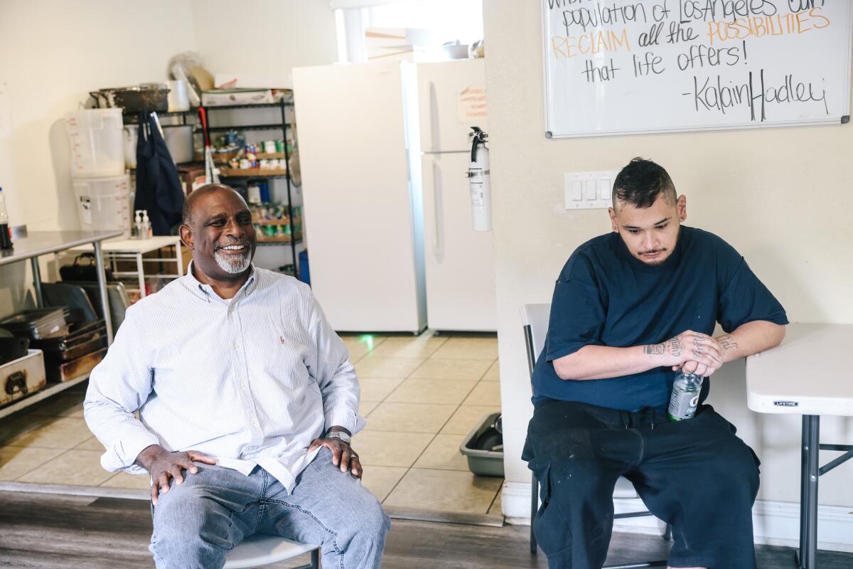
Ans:
{"label": "baggy black pants of the man holding a bottle", "polygon": [[637,412],[545,399],[525,455],[540,483],[533,531],[552,569],[599,569],[613,525],[619,476],[672,525],[670,566],[755,569],[752,503],[758,459],[710,405],[671,422]]}

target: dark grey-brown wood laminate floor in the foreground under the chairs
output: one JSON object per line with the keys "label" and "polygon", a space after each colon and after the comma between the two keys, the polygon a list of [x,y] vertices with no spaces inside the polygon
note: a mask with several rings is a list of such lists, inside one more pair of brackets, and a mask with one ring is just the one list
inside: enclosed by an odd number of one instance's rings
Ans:
{"label": "dark grey-brown wood laminate floor in the foreground under the chairs", "polygon": [[[393,520],[382,566],[386,569],[509,569],[547,567],[527,551],[529,528]],[[116,569],[152,567],[151,517],[138,500],[0,492],[0,567]],[[659,537],[613,535],[609,563],[664,559]],[[305,560],[284,563],[278,569]],[[821,569],[850,569],[853,554],[821,552]],[[793,550],[759,546],[759,569],[793,569]]]}

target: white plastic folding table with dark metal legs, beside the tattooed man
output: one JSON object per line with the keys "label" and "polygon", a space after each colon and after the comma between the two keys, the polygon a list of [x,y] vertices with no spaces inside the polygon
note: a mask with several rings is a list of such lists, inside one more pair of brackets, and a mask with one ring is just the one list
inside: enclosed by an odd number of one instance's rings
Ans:
{"label": "white plastic folding table with dark metal legs, beside the tattooed man", "polygon": [[[803,415],[801,569],[815,569],[818,479],[853,458],[851,444],[821,444],[821,415],[853,416],[853,324],[789,324],[785,341],[746,358],[746,404],[758,413]],[[844,454],[820,466],[820,450]]]}

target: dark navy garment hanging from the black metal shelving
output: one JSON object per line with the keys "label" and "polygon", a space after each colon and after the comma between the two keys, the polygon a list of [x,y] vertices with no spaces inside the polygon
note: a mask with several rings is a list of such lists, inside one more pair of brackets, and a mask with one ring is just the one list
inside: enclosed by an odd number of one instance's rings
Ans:
{"label": "dark navy garment hanging from the black metal shelving", "polygon": [[133,209],[148,210],[154,235],[177,235],[183,210],[181,178],[151,113],[139,114]]}

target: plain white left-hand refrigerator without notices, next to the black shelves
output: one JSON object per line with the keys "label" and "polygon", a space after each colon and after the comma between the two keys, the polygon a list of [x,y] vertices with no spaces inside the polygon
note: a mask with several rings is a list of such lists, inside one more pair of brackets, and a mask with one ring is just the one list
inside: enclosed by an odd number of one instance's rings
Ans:
{"label": "plain white left-hand refrigerator without notices, next to the black shelves", "polygon": [[311,288],[340,332],[427,327],[413,72],[293,69]]}

